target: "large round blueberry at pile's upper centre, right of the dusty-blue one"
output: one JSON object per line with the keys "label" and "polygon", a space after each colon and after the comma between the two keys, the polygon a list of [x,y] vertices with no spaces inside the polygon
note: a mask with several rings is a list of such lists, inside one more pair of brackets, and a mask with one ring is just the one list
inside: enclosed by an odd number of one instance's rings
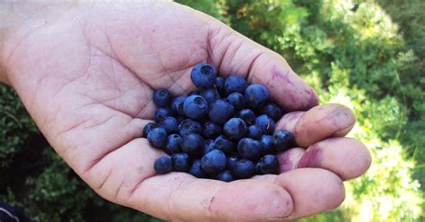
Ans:
{"label": "large round blueberry at pile's upper centre, right of the dusty-blue one", "polygon": [[210,107],[208,117],[217,124],[226,123],[235,114],[235,108],[223,99],[215,100]]}

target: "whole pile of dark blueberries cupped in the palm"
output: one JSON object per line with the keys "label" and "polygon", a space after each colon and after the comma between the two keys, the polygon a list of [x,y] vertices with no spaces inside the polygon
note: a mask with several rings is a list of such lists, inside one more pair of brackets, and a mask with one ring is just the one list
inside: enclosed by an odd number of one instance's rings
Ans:
{"label": "whole pile of dark blueberries cupped in the palm", "polygon": [[171,156],[156,159],[155,171],[225,182],[278,174],[276,153],[294,140],[289,131],[274,131],[282,109],[268,101],[267,88],[238,75],[218,77],[206,63],[195,65],[190,77],[200,91],[176,98],[166,89],[153,93],[155,124],[146,124],[143,136]]}

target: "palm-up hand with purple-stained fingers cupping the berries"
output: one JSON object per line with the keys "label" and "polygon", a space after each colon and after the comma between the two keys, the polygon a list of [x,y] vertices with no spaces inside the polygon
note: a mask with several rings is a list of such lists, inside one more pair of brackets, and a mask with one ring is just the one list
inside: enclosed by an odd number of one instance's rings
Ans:
{"label": "palm-up hand with purple-stained fingers cupping the berries", "polygon": [[[355,123],[351,110],[317,106],[316,92],[281,55],[204,13],[160,1],[0,8],[0,80],[108,201],[168,220],[288,220],[336,208],[343,181],[369,168],[365,146],[343,137]],[[141,138],[152,92],[195,90],[189,73],[201,62],[265,84],[289,112],[277,128],[294,132],[299,147],[279,155],[280,175],[224,183],[155,174],[153,161],[165,154]]]}

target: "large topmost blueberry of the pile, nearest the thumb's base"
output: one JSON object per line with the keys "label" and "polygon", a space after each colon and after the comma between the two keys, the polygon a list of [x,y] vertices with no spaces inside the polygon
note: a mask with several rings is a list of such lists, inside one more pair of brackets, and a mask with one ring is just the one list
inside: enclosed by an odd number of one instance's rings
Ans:
{"label": "large topmost blueberry of the pile, nearest the thumb's base", "polygon": [[198,88],[212,88],[215,78],[215,68],[211,64],[196,64],[192,72],[190,72],[190,79]]}

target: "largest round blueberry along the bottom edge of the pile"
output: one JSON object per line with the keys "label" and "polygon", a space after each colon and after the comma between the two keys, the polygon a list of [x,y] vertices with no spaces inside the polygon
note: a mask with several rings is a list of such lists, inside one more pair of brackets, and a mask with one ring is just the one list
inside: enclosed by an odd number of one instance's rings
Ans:
{"label": "largest round blueberry along the bottom edge of the pile", "polygon": [[219,149],[213,149],[201,158],[201,166],[206,173],[216,175],[226,168],[226,155]]}

